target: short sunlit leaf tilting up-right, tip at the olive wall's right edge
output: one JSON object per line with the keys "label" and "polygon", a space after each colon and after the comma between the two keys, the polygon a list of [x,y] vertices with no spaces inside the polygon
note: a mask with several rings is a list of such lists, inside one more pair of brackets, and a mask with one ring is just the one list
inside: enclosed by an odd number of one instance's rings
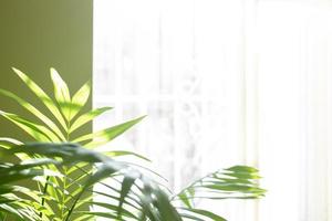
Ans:
{"label": "short sunlit leaf tilting up-right, tip at the olive wall's right edge", "polygon": [[91,92],[91,81],[86,82],[73,96],[69,120],[74,118],[86,104]]}

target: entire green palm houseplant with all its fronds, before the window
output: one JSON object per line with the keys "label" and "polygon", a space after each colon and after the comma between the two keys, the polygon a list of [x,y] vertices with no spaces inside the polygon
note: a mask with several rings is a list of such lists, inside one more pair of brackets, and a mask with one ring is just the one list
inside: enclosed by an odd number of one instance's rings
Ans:
{"label": "entire green palm houseplant with all its fronds, before the window", "polygon": [[[111,107],[103,107],[87,113],[81,112],[89,99],[91,83],[85,83],[71,96],[66,83],[54,69],[51,69],[51,80],[54,85],[54,98],[51,98],[27,74],[17,69],[13,69],[13,71],[50,113],[41,113],[14,93],[0,90],[0,94],[18,102],[19,105],[34,116],[34,119],[25,119],[4,110],[0,110],[0,115],[38,141],[35,144],[24,144],[22,140],[13,138],[0,139],[0,148],[3,149],[3,152],[13,154],[19,158],[19,164],[6,162],[0,165],[3,175],[6,170],[12,171],[13,168],[23,168],[23,173],[25,172],[24,175],[29,176],[19,178],[30,180],[35,178],[33,182],[37,185],[35,189],[31,189],[28,186],[17,187],[12,181],[9,181],[3,182],[3,190],[0,186],[0,193],[4,192],[6,196],[8,193],[6,190],[11,188],[18,188],[19,190],[20,188],[28,188],[34,196],[33,199],[30,197],[28,201],[24,194],[15,194],[13,200],[8,200],[2,196],[4,203],[1,203],[2,197],[0,197],[0,214],[3,219],[4,217],[14,215],[15,219],[21,220],[27,220],[27,217],[29,217],[31,220],[54,221],[94,220],[96,217],[111,220],[175,221],[209,219],[218,221],[225,219],[196,207],[198,193],[199,198],[209,200],[255,199],[264,194],[264,190],[259,188],[257,182],[260,178],[258,170],[247,166],[235,166],[226,170],[215,171],[189,185],[179,193],[173,193],[129,162],[115,160],[116,156],[123,155],[144,157],[129,151],[110,149],[107,152],[101,154],[93,150],[116,138],[144,117],[100,131],[82,136],[76,135],[75,131],[80,127],[112,109]],[[34,150],[34,152],[28,150]],[[68,156],[71,156],[71,158]],[[42,159],[40,159],[41,157]],[[74,164],[70,164],[71,161]],[[101,168],[107,169],[101,170]],[[14,171],[22,172],[21,170]],[[7,177],[3,177],[3,180],[11,180],[10,175],[9,172]],[[111,179],[112,182],[104,181],[105,179]],[[17,178],[13,180],[15,181]],[[112,191],[107,194],[94,191],[92,186],[96,182],[102,182]],[[206,193],[206,196],[201,197],[201,193]],[[95,201],[93,198],[95,194],[102,194],[110,198],[110,200],[106,202]],[[20,202],[23,204],[20,204]],[[27,202],[30,202],[28,211],[23,209]],[[89,210],[91,206],[98,206],[103,210]]]}

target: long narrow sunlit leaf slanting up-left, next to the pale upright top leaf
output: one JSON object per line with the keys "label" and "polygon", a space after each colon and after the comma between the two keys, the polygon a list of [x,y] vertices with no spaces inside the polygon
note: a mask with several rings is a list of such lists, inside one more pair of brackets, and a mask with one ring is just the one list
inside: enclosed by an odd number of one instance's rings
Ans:
{"label": "long narrow sunlit leaf slanting up-left, next to the pale upright top leaf", "polygon": [[25,85],[39,97],[39,99],[48,107],[48,109],[54,115],[54,117],[59,120],[61,126],[68,130],[68,126],[63,116],[61,115],[59,108],[54,104],[54,102],[50,98],[50,96],[38,86],[27,74],[23,72],[12,67],[12,70],[17,73],[17,75],[25,83]]}

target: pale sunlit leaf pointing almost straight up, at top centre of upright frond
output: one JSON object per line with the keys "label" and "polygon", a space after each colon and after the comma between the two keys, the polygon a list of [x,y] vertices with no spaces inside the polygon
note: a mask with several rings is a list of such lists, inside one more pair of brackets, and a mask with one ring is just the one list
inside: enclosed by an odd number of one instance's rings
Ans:
{"label": "pale sunlit leaf pointing almost straight up, at top centre of upright frond", "polygon": [[71,95],[66,83],[62,80],[55,69],[51,67],[51,78],[54,85],[54,96],[60,109],[68,122],[71,118]]}

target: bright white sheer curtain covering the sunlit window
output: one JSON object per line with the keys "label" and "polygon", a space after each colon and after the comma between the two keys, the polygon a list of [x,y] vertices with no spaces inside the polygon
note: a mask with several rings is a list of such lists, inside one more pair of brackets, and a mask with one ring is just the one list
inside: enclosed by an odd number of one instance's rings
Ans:
{"label": "bright white sheer curtain covering the sunlit window", "polygon": [[147,114],[135,149],[175,191],[259,167],[259,201],[206,204],[236,221],[332,221],[331,0],[95,0],[95,128]]}

